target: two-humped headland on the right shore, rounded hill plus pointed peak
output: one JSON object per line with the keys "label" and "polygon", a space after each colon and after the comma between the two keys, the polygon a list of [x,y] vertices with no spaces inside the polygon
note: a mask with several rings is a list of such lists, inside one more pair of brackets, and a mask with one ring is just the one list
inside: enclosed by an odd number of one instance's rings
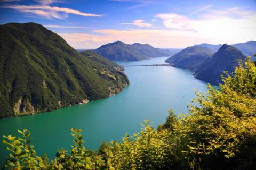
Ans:
{"label": "two-humped headland on the right shore, rounded hill plus pointed peak", "polygon": [[223,71],[233,72],[238,60],[245,61],[245,58],[239,49],[224,44],[216,53],[208,47],[187,47],[165,62],[193,71],[197,79],[219,84]]}

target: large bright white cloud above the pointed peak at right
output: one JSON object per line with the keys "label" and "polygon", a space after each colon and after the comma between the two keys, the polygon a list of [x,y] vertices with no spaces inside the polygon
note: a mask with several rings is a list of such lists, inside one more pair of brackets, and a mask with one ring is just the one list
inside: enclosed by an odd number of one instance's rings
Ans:
{"label": "large bright white cloud above the pointed peak at right", "polygon": [[175,13],[156,15],[168,29],[183,31],[184,34],[210,39],[215,43],[238,43],[256,39],[256,12],[239,8],[211,10],[201,19],[190,19]]}

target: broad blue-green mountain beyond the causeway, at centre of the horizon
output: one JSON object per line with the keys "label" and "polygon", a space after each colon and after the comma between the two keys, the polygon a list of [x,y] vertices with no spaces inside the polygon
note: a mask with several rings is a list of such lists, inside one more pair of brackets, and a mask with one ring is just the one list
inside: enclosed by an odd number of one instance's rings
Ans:
{"label": "broad blue-green mountain beyond the causeway, at centre of the horizon", "polygon": [[139,61],[146,60],[151,57],[169,56],[168,50],[154,48],[148,44],[125,44],[121,41],[102,45],[94,50],[109,60],[130,60]]}

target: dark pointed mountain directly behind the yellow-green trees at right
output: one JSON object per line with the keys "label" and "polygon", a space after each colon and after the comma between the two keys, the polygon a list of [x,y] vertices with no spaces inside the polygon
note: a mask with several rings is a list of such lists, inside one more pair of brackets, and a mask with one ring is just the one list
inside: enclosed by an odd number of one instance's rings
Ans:
{"label": "dark pointed mountain directly behind the yellow-green trees at right", "polygon": [[223,71],[233,72],[238,66],[238,60],[244,61],[245,58],[237,48],[224,44],[211,58],[199,65],[194,75],[197,79],[219,84]]}

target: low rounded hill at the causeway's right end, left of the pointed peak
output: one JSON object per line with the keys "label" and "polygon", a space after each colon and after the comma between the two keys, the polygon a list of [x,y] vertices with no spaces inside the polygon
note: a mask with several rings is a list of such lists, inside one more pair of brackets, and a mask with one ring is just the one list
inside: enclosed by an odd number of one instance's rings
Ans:
{"label": "low rounded hill at the causeway's right end, left of the pointed peak", "polygon": [[202,64],[212,55],[213,51],[210,48],[193,46],[181,50],[179,53],[165,60],[165,62],[175,67],[195,70],[198,65]]}

